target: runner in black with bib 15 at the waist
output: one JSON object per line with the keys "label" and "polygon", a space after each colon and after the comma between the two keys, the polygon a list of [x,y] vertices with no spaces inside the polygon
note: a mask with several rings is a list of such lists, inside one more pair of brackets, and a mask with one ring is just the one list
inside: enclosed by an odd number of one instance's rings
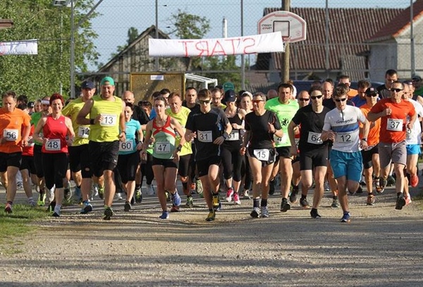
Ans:
{"label": "runner in black with bib 15 at the waist", "polygon": [[283,136],[278,117],[273,111],[264,109],[265,104],[266,96],[262,92],[253,95],[254,112],[245,116],[245,137],[240,149],[240,154],[247,153],[252,169],[252,218],[269,217],[269,178],[276,160],[274,136]]}

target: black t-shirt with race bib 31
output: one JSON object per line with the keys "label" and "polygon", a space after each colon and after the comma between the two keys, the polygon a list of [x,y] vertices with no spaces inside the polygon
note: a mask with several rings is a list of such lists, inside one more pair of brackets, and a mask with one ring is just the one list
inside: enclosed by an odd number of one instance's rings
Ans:
{"label": "black t-shirt with race bib 31", "polygon": [[197,149],[196,161],[221,154],[221,146],[213,142],[223,134],[228,123],[228,118],[221,109],[212,108],[207,114],[201,111],[198,114],[190,112],[185,128],[197,133],[197,138],[194,140]]}

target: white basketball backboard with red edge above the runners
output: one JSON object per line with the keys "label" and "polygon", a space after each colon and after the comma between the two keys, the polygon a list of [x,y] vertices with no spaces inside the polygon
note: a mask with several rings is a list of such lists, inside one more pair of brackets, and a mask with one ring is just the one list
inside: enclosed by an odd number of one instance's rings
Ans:
{"label": "white basketball backboard with red edge above the runners", "polygon": [[284,42],[299,42],[305,40],[307,24],[295,13],[275,11],[267,14],[257,23],[258,34],[281,31]]}

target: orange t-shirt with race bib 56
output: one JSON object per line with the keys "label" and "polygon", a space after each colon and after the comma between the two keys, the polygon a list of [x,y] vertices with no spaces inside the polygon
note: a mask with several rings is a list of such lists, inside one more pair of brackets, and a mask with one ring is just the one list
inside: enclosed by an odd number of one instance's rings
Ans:
{"label": "orange t-shirt with race bib 56", "polygon": [[21,129],[30,126],[30,116],[18,108],[8,111],[0,109],[0,138],[6,141],[0,145],[0,152],[11,154],[12,152],[22,152],[22,147],[18,145],[21,136]]}

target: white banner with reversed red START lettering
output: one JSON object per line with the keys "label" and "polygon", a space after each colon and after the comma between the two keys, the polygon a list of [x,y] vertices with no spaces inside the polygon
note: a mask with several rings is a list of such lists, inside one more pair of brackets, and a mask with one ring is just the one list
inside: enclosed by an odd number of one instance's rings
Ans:
{"label": "white banner with reversed red START lettering", "polygon": [[274,32],[216,39],[149,39],[149,56],[228,56],[283,51],[282,34]]}

